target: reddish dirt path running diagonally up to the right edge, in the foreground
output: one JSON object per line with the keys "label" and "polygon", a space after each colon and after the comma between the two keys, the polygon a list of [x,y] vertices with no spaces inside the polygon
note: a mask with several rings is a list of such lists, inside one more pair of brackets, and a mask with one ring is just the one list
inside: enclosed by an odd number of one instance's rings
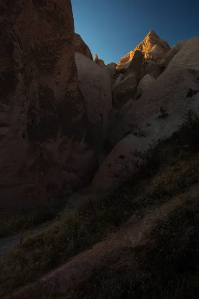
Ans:
{"label": "reddish dirt path running diagonally up to the right edge, in the foreground", "polygon": [[[97,243],[92,249],[80,253],[71,259],[68,263],[60,268],[51,271],[43,276],[35,284],[29,284],[21,288],[15,293],[16,299],[36,299],[40,298],[42,292],[48,290],[53,292],[61,292],[63,298],[68,298],[68,290],[78,286],[83,278],[89,278],[94,269],[101,266],[107,266],[107,261],[117,261],[117,267],[125,267],[122,259],[125,257],[120,254],[124,249],[133,249],[137,245],[144,245],[148,242],[147,236],[155,227],[156,221],[166,220],[169,215],[192,196],[197,198],[199,194],[199,185],[193,186],[184,194],[174,197],[169,202],[162,204],[160,207],[147,211],[145,216],[139,220],[139,217],[131,217],[129,221],[123,225],[116,233],[106,237],[102,242]],[[122,251],[123,250],[123,251]],[[118,256],[121,261],[118,261]],[[115,258],[115,259],[114,259]],[[127,257],[128,258],[128,257]],[[132,259],[132,257],[131,257]],[[116,267],[113,263],[110,267]],[[8,299],[9,297],[4,297]]]}

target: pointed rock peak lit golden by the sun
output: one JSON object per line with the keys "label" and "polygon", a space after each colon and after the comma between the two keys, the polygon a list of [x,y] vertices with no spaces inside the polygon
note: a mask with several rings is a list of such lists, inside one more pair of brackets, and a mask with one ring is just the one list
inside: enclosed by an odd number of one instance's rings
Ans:
{"label": "pointed rock peak lit golden by the sun", "polygon": [[137,50],[141,51],[146,59],[157,62],[165,59],[170,46],[166,40],[160,39],[154,30],[150,30],[143,41],[135,47],[134,51]]}

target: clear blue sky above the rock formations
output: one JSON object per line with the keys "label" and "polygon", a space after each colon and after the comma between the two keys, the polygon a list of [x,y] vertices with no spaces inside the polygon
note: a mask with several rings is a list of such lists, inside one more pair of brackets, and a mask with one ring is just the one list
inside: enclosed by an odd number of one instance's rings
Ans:
{"label": "clear blue sky above the rock formations", "polygon": [[170,47],[199,36],[199,0],[71,0],[75,32],[93,56],[117,63],[153,29]]}

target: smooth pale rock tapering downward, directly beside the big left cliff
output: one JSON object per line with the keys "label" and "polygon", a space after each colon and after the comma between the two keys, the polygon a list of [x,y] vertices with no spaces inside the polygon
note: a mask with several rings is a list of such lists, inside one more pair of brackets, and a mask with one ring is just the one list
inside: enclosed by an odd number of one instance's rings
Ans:
{"label": "smooth pale rock tapering downward, directly beside the big left cliff", "polygon": [[112,109],[111,79],[103,68],[82,54],[75,54],[78,80],[85,99],[96,151],[100,151]]}

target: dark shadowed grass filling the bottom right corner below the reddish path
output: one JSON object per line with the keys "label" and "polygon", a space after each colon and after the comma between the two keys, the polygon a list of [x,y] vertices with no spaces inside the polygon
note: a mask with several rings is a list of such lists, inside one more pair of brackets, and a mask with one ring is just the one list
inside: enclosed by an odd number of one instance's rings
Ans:
{"label": "dark shadowed grass filling the bottom right corner below the reddish path", "polygon": [[[147,238],[147,244],[107,260],[71,299],[199,298],[199,198],[189,198]],[[120,255],[127,257],[118,270]]]}

